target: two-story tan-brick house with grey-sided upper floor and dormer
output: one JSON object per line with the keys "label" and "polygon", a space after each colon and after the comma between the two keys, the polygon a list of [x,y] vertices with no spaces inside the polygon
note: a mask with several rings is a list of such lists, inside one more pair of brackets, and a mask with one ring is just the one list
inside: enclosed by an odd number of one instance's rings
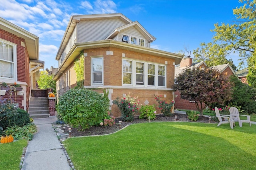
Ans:
{"label": "two-story tan-brick house with grey-sided upper floor and dormer", "polygon": [[76,86],[74,61],[84,55],[84,87],[109,92],[110,109],[117,97],[138,96],[141,104],[156,104],[154,95],[174,99],[174,66],[182,55],[150,48],[156,38],[122,14],[71,16],[56,60],[57,97]]}

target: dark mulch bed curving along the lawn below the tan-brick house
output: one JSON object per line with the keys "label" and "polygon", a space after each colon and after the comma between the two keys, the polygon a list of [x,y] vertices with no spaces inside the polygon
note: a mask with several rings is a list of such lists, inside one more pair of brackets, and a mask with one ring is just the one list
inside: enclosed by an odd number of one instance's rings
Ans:
{"label": "dark mulch bed curving along the lawn below the tan-brick house", "polygon": [[[187,118],[186,114],[173,114],[170,117],[163,116],[163,115],[156,115],[155,120],[150,120],[150,122],[160,122],[160,121],[175,121],[175,115],[177,115],[176,121],[186,121],[186,122],[192,122]],[[120,121],[120,118],[116,118],[115,122],[116,124],[113,126],[92,126],[89,129],[86,129],[84,131],[78,131],[78,129],[72,127],[72,132],[71,136],[72,137],[78,137],[78,136],[91,136],[91,135],[105,135],[109,133],[113,133],[119,130],[119,124],[118,121]],[[134,121],[132,122],[122,122],[121,124],[121,129],[127,125],[131,125],[134,123],[146,123],[148,120],[146,119],[139,119],[138,117],[134,118]],[[208,117],[202,117],[200,116],[196,122],[201,122],[201,123],[209,123],[209,118]],[[211,120],[210,123],[216,123],[215,121]],[[69,133],[68,128],[69,125],[63,125],[62,129],[64,130],[64,133]]]}

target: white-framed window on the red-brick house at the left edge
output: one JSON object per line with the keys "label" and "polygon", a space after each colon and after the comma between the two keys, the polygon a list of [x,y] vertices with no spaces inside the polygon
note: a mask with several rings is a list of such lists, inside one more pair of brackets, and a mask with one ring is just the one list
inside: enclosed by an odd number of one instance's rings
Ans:
{"label": "white-framed window on the red-brick house at the left edge", "polygon": [[0,78],[17,78],[16,45],[0,39]]}

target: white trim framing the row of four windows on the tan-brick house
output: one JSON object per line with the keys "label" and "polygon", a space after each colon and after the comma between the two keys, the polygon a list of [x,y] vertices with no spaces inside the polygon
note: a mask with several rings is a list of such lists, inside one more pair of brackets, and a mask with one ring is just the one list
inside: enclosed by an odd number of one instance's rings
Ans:
{"label": "white trim framing the row of four windows on the tan-brick house", "polygon": [[[133,86],[133,87],[155,87],[155,88],[166,88],[166,80],[167,80],[167,74],[166,74],[166,65],[164,64],[158,64],[158,63],[151,63],[146,61],[139,61],[139,60],[131,60],[131,59],[122,59],[122,66],[123,61],[132,61],[132,84],[124,84],[123,83],[123,68],[122,68],[122,86]],[[136,62],[144,63],[144,85],[136,84]],[[155,65],[155,85],[148,85],[148,64],[154,64]],[[164,66],[165,67],[165,86],[158,86],[158,66]],[[151,75],[151,74],[150,74]]]}

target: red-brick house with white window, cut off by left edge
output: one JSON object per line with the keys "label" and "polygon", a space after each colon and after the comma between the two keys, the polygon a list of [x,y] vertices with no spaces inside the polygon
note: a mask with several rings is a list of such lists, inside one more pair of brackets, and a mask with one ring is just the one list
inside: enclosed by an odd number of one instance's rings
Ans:
{"label": "red-brick house with white window, cut off by left edge", "polygon": [[[36,35],[0,18],[0,84],[21,85],[15,102],[24,110],[28,110],[30,90],[35,88],[39,69],[44,68],[44,62],[38,61],[38,47]],[[0,90],[0,94],[8,98],[5,90]]]}

